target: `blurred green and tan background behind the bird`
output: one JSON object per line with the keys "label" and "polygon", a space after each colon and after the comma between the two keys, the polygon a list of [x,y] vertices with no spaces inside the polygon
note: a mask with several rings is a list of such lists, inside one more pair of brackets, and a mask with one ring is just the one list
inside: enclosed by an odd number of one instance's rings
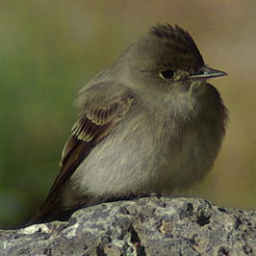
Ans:
{"label": "blurred green and tan background behind the bird", "polygon": [[230,111],[214,169],[189,195],[256,210],[255,1],[0,2],[0,227],[24,223],[55,176],[77,91],[156,23],[178,24]]}

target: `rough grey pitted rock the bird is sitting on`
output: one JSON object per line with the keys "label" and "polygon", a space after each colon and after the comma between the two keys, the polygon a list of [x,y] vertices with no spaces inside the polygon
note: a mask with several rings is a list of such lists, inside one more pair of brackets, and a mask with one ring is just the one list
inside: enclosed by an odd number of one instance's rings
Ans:
{"label": "rough grey pitted rock the bird is sitting on", "polygon": [[0,231],[1,255],[256,255],[256,213],[198,198],[82,209],[68,222]]}

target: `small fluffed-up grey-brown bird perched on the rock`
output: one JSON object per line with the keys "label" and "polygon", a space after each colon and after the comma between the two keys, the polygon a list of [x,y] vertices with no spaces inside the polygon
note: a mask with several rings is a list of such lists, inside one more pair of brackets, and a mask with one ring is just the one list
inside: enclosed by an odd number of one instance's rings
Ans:
{"label": "small fluffed-up grey-brown bird perched on the rock", "polygon": [[227,110],[188,32],[159,24],[80,90],[80,117],[61,171],[30,223],[67,219],[90,205],[200,181],[213,166]]}

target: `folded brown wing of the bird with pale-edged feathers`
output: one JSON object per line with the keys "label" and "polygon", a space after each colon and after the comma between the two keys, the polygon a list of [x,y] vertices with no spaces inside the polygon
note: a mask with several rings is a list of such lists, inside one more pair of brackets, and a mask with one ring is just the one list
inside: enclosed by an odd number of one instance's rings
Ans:
{"label": "folded brown wing of the bird with pale-edged feathers", "polygon": [[[99,83],[82,90],[78,105],[83,113],[72,128],[72,135],[64,145],[62,169],[38,214],[31,222],[51,216],[65,181],[87,157],[90,150],[106,138],[115,125],[131,109],[135,95],[121,84]],[[60,202],[59,202],[60,203]]]}

